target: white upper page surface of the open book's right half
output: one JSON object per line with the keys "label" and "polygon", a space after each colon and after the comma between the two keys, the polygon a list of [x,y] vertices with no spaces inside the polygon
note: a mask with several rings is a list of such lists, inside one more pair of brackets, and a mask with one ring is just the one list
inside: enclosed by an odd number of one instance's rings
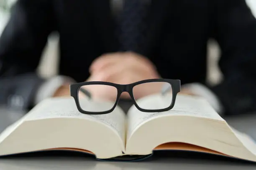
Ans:
{"label": "white upper page surface of the open book's right half", "polygon": [[[161,105],[161,95],[151,95],[141,98],[137,102],[140,105]],[[189,95],[177,95],[176,102],[172,110],[165,112],[141,112],[135,106],[132,106],[128,111],[128,131],[127,138],[133,133],[133,131],[143,122],[146,122],[152,118],[161,116],[193,116],[209,118],[213,120],[223,120],[220,115],[210,106],[210,104],[201,97],[194,97]]]}

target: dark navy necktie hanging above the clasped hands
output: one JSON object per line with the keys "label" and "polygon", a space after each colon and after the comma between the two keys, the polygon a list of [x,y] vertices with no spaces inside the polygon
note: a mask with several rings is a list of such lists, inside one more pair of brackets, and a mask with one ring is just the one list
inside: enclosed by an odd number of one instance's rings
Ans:
{"label": "dark navy necktie hanging above the clasped hands", "polygon": [[147,5],[143,0],[125,0],[119,18],[121,51],[140,52],[145,40]]}

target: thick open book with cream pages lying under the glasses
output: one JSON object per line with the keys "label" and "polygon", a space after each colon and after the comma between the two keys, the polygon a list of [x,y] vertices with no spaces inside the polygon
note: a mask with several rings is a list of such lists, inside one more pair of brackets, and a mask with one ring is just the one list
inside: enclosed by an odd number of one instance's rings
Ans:
{"label": "thick open book with cream pages lying under the glasses", "polygon": [[46,150],[86,152],[98,159],[188,150],[256,161],[250,137],[230,128],[204,99],[188,95],[178,95],[166,112],[140,112],[132,106],[127,115],[120,107],[106,115],[85,115],[73,98],[51,98],[0,134],[1,156]]}

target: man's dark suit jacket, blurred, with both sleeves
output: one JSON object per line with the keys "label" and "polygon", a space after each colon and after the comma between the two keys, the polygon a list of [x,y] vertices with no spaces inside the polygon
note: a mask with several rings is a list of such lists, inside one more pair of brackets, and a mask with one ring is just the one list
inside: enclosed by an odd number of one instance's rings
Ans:
{"label": "man's dark suit jacket, blurred, with both sleeves", "polygon": [[[256,110],[256,19],[245,0],[152,0],[138,53],[164,78],[205,83],[207,40],[222,50],[225,80],[210,87],[226,113]],[[26,99],[43,80],[34,72],[47,36],[59,32],[59,73],[82,82],[92,60],[119,49],[108,0],[18,0],[0,38],[0,96]],[[20,77],[23,76],[23,77]],[[29,80],[29,81],[28,81]]]}

